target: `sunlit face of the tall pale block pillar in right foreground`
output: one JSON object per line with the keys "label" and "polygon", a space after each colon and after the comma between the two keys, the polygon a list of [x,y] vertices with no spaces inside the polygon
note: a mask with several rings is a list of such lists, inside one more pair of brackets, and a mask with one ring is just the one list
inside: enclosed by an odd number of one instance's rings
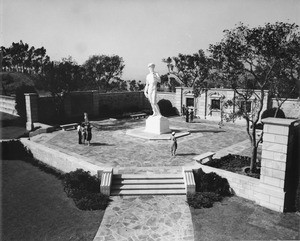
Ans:
{"label": "sunlit face of the tall pale block pillar in right foreground", "polygon": [[290,128],[296,120],[263,119],[260,185],[254,191],[261,206],[283,212],[286,199],[287,160]]}

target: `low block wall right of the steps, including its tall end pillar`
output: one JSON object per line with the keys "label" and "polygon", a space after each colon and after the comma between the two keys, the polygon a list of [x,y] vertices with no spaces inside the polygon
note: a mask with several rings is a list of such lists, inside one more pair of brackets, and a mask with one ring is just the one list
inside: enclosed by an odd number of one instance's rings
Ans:
{"label": "low block wall right of the steps, including its tall end pillar", "polygon": [[299,120],[266,118],[263,123],[260,179],[201,164],[200,168],[226,178],[237,196],[277,212],[294,211],[296,192],[300,192],[297,186],[300,183],[300,155],[299,141],[295,142],[293,138]]}

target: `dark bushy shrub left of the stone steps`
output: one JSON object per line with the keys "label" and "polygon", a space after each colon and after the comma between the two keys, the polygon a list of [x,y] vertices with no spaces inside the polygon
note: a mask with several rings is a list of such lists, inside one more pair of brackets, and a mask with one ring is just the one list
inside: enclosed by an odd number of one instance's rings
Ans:
{"label": "dark bushy shrub left of the stone steps", "polygon": [[64,190],[81,210],[105,209],[110,201],[107,195],[100,193],[100,183],[90,172],[77,169],[63,178]]}

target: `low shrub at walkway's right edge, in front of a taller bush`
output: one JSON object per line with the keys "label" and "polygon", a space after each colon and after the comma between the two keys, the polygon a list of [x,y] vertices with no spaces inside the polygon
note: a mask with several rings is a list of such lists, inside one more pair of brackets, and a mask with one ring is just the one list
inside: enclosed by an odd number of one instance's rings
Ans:
{"label": "low shrub at walkway's right edge, in front of a taller bush", "polygon": [[214,202],[219,202],[222,197],[214,192],[196,192],[187,194],[187,202],[193,208],[210,208]]}

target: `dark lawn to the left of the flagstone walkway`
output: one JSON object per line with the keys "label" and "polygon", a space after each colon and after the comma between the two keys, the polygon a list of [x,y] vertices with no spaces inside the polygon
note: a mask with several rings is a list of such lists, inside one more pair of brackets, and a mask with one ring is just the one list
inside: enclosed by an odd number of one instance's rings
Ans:
{"label": "dark lawn to the left of the flagstone walkway", "polygon": [[93,240],[104,211],[81,211],[61,181],[20,160],[2,161],[1,240]]}

